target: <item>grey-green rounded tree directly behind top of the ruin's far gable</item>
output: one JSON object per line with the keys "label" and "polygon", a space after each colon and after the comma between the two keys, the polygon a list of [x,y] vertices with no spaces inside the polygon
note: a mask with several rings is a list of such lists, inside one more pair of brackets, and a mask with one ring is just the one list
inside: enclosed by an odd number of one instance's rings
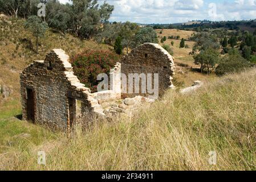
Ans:
{"label": "grey-green rounded tree directly behind top of the ruin's far gable", "polygon": [[156,31],[152,27],[141,28],[135,35],[135,47],[144,43],[158,43]]}

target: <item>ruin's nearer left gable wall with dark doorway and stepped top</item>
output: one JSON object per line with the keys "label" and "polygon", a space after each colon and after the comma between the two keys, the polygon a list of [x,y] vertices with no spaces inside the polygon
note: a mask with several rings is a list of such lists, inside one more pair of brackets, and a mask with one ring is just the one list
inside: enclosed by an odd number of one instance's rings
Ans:
{"label": "ruin's nearer left gable wall with dark doorway and stepped top", "polygon": [[76,118],[76,100],[82,101],[83,115],[103,114],[90,89],[74,76],[68,60],[62,49],[54,49],[44,61],[34,61],[23,70],[20,75],[23,119],[61,129],[70,127]]}

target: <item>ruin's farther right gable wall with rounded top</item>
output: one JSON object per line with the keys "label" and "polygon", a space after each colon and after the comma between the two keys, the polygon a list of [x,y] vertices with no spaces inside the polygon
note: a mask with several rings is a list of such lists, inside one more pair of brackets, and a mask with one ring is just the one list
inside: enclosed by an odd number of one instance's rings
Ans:
{"label": "ruin's farther right gable wall with rounded top", "polygon": [[[143,45],[133,49],[131,53],[123,57],[121,60],[121,73],[124,73],[127,77],[128,88],[128,74],[129,73],[158,73],[159,74],[159,95],[164,94],[165,90],[172,87],[172,76],[174,74],[174,62],[173,57],[159,44],[144,43]],[[153,78],[152,78],[153,81]],[[144,96],[148,97],[150,94],[141,92],[140,82],[139,93],[127,93],[122,94],[122,97],[135,97]],[[152,86],[155,86],[152,84]],[[134,90],[133,90],[134,91]],[[128,89],[127,89],[128,92]]]}

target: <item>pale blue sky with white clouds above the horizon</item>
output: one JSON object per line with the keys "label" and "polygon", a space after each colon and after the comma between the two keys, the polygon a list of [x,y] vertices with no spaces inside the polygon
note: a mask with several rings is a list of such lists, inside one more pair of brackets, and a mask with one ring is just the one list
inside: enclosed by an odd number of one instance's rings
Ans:
{"label": "pale blue sky with white clouds above the horizon", "polygon": [[[59,0],[68,2],[68,0]],[[103,2],[103,1],[99,1]],[[194,19],[256,19],[256,0],[107,0],[111,21],[181,23]]]}

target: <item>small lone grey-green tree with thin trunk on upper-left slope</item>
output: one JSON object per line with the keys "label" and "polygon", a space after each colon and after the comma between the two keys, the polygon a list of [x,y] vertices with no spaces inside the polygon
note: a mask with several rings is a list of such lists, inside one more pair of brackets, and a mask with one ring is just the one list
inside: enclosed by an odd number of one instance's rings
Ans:
{"label": "small lone grey-green tree with thin trunk on upper-left slope", "polygon": [[42,38],[48,28],[46,22],[42,22],[42,19],[38,16],[30,16],[25,22],[25,28],[31,31],[36,41],[36,53],[38,53],[38,39]]}

